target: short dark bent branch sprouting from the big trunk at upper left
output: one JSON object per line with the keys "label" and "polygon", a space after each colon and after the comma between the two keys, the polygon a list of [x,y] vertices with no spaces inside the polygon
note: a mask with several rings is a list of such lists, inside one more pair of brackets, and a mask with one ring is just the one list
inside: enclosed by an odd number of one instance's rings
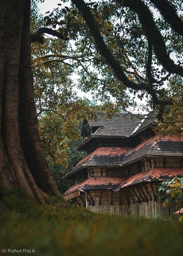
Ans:
{"label": "short dark bent branch sprouting from the big trunk at upper left", "polygon": [[30,42],[31,43],[33,43],[33,42],[43,43],[44,37],[42,36],[42,34],[49,34],[49,35],[56,36],[63,40],[69,40],[68,37],[64,36],[62,33],[58,32],[54,29],[41,27],[41,28],[38,28],[36,31],[30,33]]}

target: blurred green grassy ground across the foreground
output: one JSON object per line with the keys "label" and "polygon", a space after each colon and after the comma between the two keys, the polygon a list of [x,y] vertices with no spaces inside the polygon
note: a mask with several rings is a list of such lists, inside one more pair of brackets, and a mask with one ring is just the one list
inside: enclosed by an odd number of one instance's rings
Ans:
{"label": "blurred green grassy ground across the foreground", "polygon": [[93,214],[73,206],[63,208],[53,198],[40,206],[19,192],[3,195],[2,203],[0,254],[2,249],[25,248],[35,249],[29,255],[46,256],[182,255],[183,223],[176,219]]}

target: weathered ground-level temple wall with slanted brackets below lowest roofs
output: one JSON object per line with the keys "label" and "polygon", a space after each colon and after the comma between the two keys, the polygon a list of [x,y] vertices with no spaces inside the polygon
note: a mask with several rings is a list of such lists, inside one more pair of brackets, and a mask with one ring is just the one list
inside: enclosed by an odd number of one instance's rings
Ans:
{"label": "weathered ground-level temple wall with slanted brackets below lowest roofs", "polygon": [[[88,199],[90,199],[87,200],[88,209],[97,213],[144,218],[166,217],[175,213],[177,210],[175,204],[163,208],[161,202],[156,199],[157,186],[154,184],[151,187],[150,184],[147,184],[147,190],[144,186],[139,186],[119,192],[112,190],[93,190],[90,191],[90,196],[88,195]],[[95,206],[92,206],[91,197],[95,202]],[[81,207],[85,206],[85,195],[80,194],[77,197],[77,201]]]}

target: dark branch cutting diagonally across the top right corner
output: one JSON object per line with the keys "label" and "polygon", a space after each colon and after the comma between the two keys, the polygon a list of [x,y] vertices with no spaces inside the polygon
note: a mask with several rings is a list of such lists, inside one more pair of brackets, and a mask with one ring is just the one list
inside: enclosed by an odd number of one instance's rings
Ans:
{"label": "dark branch cutting diagonally across the top right corner", "polygon": [[183,36],[183,22],[180,17],[176,14],[173,6],[168,3],[166,0],[150,0],[156,8],[160,11],[161,15],[168,21],[171,27],[178,33]]}

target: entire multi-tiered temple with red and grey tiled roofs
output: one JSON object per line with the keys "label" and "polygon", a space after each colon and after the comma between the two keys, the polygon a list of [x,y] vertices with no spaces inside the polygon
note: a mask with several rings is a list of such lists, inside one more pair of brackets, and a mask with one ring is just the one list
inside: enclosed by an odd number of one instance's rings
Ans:
{"label": "entire multi-tiered temple with red and grey tiled roofs", "polygon": [[87,201],[88,209],[98,213],[146,218],[175,213],[174,203],[162,207],[157,187],[183,176],[183,136],[155,135],[153,113],[97,117],[83,121],[77,149],[88,155],[64,177],[76,180],[64,198],[80,207]]}

